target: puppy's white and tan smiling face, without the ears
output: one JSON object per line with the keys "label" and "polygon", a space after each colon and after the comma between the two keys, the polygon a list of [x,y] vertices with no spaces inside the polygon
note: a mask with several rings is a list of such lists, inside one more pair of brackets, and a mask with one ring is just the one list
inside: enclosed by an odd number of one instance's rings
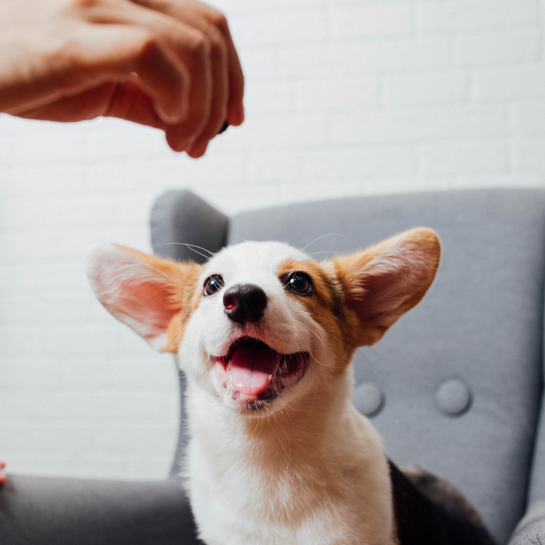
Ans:
{"label": "puppy's white and tan smiling face, without the ears", "polygon": [[314,387],[335,361],[336,282],[280,243],[229,247],[204,265],[202,293],[179,348],[181,366],[222,403],[269,411]]}

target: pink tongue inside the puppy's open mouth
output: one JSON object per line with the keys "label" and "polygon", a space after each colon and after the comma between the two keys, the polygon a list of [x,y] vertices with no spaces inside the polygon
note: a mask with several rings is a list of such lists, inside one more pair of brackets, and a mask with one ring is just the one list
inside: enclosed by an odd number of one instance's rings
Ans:
{"label": "pink tongue inside the puppy's open mouth", "polygon": [[271,348],[239,348],[229,364],[232,387],[247,396],[263,393],[269,387],[269,376],[274,377],[281,357]]}

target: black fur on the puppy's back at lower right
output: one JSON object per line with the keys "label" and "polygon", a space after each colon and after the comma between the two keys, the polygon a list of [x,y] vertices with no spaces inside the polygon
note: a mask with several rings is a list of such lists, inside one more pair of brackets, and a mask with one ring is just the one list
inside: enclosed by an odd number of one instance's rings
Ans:
{"label": "black fur on the puppy's back at lower right", "polygon": [[405,475],[389,465],[399,545],[496,545],[451,485],[424,471]]}

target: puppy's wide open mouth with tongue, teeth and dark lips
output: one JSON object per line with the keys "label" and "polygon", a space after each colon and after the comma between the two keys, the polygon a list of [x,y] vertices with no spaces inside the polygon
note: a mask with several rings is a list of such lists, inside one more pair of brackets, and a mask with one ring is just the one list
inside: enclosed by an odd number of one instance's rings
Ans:
{"label": "puppy's wide open mouth with tongue, teeth and dark lips", "polygon": [[281,354],[252,337],[239,338],[224,356],[213,356],[217,380],[243,402],[278,397],[301,380],[309,359],[308,352]]}

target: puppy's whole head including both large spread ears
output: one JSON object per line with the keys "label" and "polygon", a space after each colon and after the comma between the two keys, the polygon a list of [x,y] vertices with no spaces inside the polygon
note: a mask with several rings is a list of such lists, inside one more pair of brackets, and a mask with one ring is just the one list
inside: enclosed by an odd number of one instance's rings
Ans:
{"label": "puppy's whole head including both large spread ears", "polygon": [[273,242],[227,247],[205,265],[106,245],[89,251],[87,271],[107,310],[178,353],[216,402],[270,414],[328,384],[420,301],[439,251],[428,229],[323,263]]}

